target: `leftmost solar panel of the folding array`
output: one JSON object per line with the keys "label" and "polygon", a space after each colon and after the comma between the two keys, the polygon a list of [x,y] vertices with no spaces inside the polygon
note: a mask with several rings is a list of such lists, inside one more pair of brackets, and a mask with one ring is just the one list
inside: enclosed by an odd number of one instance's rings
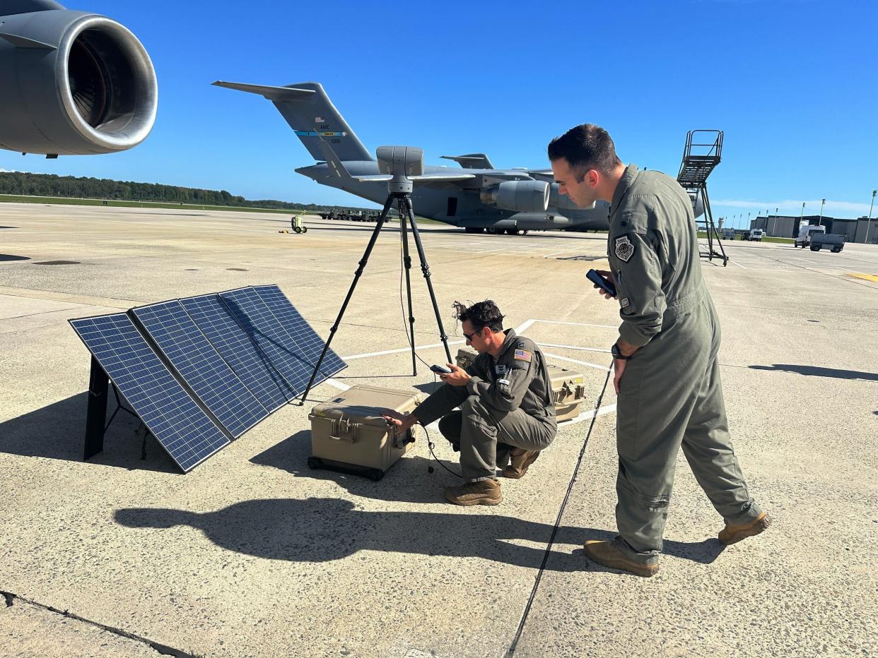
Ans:
{"label": "leftmost solar panel of the folding array", "polygon": [[226,435],[177,383],[131,318],[114,313],[70,324],[184,473],[228,445]]}

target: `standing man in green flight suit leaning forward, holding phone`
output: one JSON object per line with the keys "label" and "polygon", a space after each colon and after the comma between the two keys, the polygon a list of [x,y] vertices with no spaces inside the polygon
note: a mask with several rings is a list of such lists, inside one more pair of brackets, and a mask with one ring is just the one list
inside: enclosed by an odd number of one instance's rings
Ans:
{"label": "standing man in green flight suit leaning forward, holding phone", "polygon": [[615,283],[622,317],[611,350],[619,536],[587,541],[588,558],[637,576],[658,572],[680,446],[725,519],[719,540],[761,533],[771,519],[750,496],[731,447],[716,356],[719,319],[702,279],[691,200],[673,178],[625,167],[598,125],[553,139],[549,160],[560,192],[579,207],[611,204],[612,271],[601,275]]}

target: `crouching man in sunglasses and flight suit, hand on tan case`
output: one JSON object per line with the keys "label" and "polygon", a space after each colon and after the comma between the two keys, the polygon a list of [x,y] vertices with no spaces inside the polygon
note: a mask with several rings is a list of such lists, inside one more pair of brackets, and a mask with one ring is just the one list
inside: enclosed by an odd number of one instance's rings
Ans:
{"label": "crouching man in sunglasses and flight suit, hand on tan case", "polygon": [[[497,466],[506,477],[522,477],[540,451],[555,439],[558,425],[551,380],[536,343],[515,330],[503,331],[503,315],[491,300],[469,308],[455,302],[466,344],[479,353],[464,368],[448,364],[444,386],[411,414],[385,416],[405,433],[415,423],[439,421],[439,430],[460,450],[464,484],[445,497],[459,505],[495,505],[503,500]],[[459,406],[460,411],[452,411]]]}

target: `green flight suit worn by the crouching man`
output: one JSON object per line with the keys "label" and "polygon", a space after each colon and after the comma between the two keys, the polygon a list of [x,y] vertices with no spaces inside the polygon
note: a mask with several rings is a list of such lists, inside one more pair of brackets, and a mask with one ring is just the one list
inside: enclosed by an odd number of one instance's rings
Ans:
{"label": "green flight suit worn by the crouching man", "polygon": [[498,453],[505,464],[510,447],[543,450],[558,431],[543,353],[514,329],[504,333],[496,359],[479,354],[466,368],[466,386],[444,384],[412,411],[424,425],[442,418],[439,429],[459,447],[466,482],[496,476]]}

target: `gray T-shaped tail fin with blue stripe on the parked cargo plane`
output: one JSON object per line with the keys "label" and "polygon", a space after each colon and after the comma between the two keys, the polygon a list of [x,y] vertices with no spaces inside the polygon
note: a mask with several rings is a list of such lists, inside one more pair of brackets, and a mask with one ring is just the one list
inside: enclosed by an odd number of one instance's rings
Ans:
{"label": "gray T-shaped tail fin with blue stripe on the parked cargo plane", "polygon": [[332,149],[340,161],[375,160],[350,129],[348,122],[335,109],[320,82],[301,82],[286,87],[219,80],[213,84],[259,94],[269,99],[314,160],[327,159],[321,142]]}

